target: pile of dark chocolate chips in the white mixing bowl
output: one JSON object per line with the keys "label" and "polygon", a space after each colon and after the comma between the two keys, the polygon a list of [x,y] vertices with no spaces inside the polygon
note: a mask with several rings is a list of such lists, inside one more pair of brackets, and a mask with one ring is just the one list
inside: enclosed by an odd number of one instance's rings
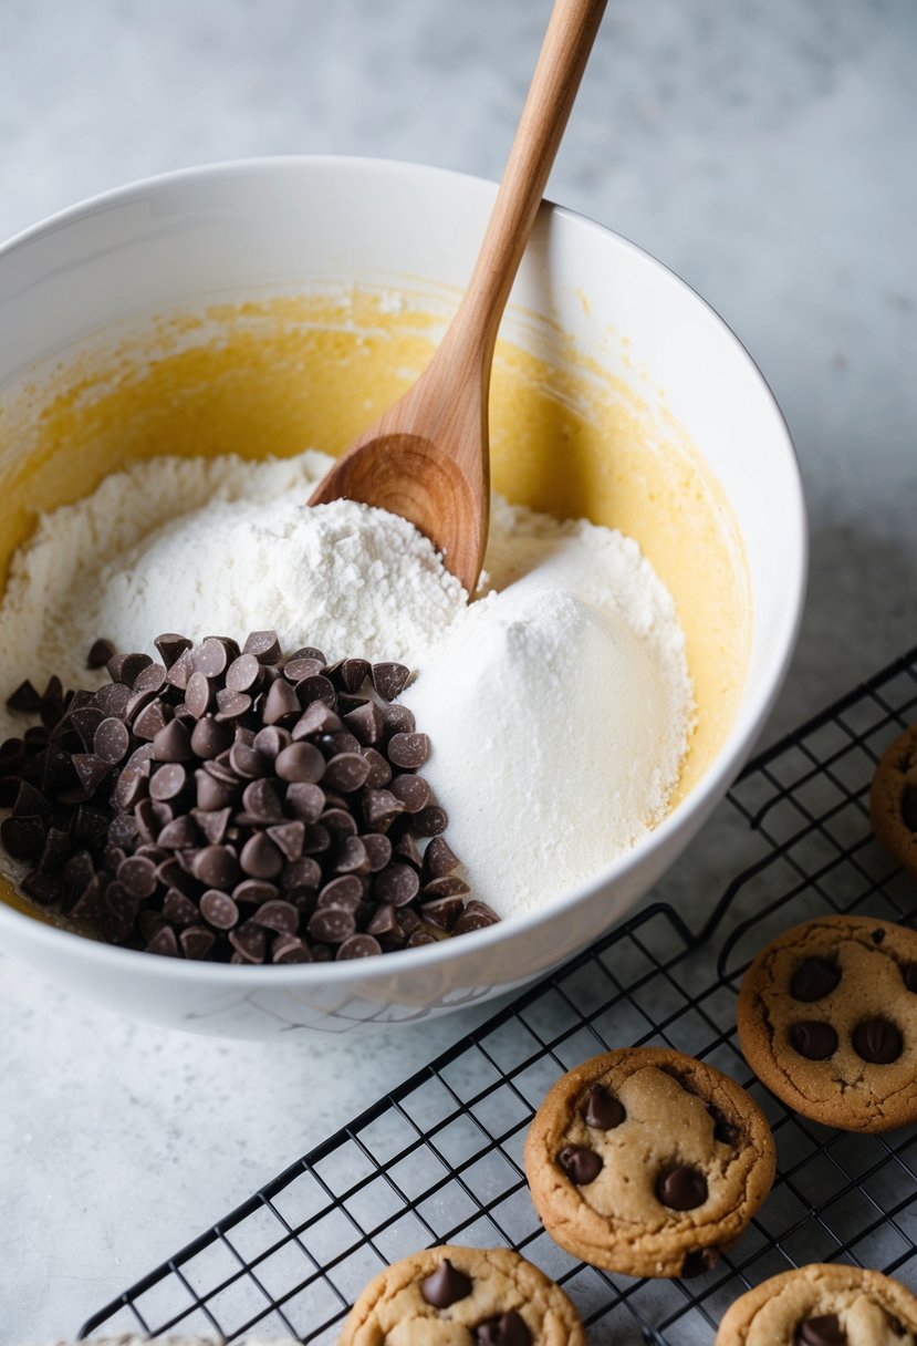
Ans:
{"label": "pile of dark chocolate chips in the white mixing bowl", "polygon": [[[110,944],[222,962],[312,962],[414,948],[492,925],[467,900],[429,755],[393,699],[401,664],[155,641],[116,654],[97,692],[8,700],[40,720],[0,746],[0,841],[22,890]],[[420,843],[420,844],[418,844]],[[425,844],[426,843],[426,844]]]}

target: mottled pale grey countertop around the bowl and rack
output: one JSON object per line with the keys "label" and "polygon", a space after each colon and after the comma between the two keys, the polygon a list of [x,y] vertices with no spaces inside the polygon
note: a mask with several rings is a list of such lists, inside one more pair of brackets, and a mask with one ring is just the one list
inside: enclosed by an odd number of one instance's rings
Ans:
{"label": "mottled pale grey countertop around the bowl and rack", "polygon": [[[0,237],[247,155],[497,178],[549,8],[4,0]],[[912,0],[612,0],[550,184],[699,289],[789,421],[812,581],[770,738],[914,641],[916,48]],[[682,882],[709,859],[702,837]],[[468,1026],[210,1042],[3,960],[0,1339],[73,1334]]]}

